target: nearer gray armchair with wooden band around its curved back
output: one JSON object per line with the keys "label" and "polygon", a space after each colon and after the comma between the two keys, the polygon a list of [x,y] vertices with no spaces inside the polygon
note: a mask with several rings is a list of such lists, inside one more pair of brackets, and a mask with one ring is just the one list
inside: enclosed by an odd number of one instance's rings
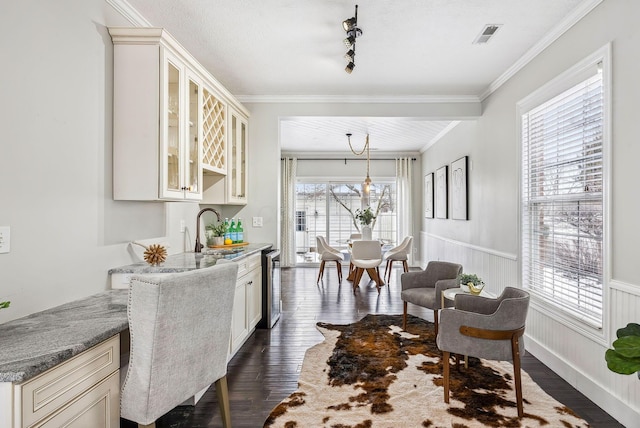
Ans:
{"label": "nearer gray armchair with wooden band around its curved back", "polygon": [[518,417],[522,417],[520,357],[524,355],[524,334],[529,293],[506,287],[497,299],[457,294],[455,309],[440,313],[436,337],[443,351],[444,401],[449,402],[449,356],[451,353],[478,358],[512,361]]}

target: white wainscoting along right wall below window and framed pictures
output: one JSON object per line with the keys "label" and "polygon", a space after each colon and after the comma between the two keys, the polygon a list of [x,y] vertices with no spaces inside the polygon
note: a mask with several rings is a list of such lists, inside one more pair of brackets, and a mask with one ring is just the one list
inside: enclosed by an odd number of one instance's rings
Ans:
{"label": "white wainscoting along right wall below window and framed pictures", "polygon": [[[462,264],[476,273],[487,290],[500,293],[506,286],[520,286],[518,257],[421,232],[420,253],[430,260]],[[605,300],[605,331],[589,331],[554,315],[532,298],[527,317],[527,352],[546,364],[594,403],[625,426],[639,426],[640,379],[634,374],[609,371],[604,353],[616,338],[616,330],[629,322],[640,323],[640,285],[611,281]]]}

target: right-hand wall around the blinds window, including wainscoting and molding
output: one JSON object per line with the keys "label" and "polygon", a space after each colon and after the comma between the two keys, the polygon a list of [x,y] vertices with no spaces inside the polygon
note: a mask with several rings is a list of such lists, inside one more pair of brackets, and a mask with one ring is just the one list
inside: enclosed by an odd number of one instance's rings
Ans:
{"label": "right-hand wall around the blinds window, including wainscoting and molding", "polygon": [[582,58],[611,42],[613,118],[611,278],[606,278],[604,331],[570,327],[532,301],[527,349],[627,426],[640,417],[640,381],[610,372],[604,353],[615,330],[640,316],[636,243],[640,241],[635,164],[640,156],[640,2],[605,0],[483,102],[477,121],[462,122],[423,154],[423,173],[462,155],[469,172],[470,220],[422,219],[422,250],[429,258],[460,261],[489,279],[496,291],[519,285],[519,138],[516,103]]}

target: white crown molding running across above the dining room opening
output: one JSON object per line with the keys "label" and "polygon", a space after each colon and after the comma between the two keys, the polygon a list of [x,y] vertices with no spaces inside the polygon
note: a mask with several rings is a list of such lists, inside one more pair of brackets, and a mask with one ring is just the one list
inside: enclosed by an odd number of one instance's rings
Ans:
{"label": "white crown molding running across above the dining room opening", "polygon": [[478,103],[477,95],[236,95],[243,103]]}

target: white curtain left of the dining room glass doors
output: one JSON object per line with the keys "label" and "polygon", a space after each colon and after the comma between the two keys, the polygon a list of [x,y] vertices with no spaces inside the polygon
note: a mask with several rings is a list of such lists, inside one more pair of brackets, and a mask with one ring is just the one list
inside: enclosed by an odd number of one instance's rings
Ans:
{"label": "white curtain left of the dining room glass doors", "polygon": [[281,183],[282,200],[280,201],[280,266],[292,267],[296,265],[296,168],[298,161],[296,158],[282,159]]}

